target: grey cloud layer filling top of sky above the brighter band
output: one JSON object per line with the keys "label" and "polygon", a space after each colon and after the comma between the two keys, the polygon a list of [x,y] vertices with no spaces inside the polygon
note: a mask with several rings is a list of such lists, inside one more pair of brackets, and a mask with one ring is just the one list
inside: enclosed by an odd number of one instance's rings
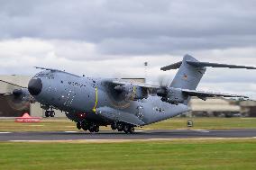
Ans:
{"label": "grey cloud layer filling top of sky above the brighter band", "polygon": [[82,40],[123,55],[251,47],[255,6],[250,0],[2,0],[0,38]]}

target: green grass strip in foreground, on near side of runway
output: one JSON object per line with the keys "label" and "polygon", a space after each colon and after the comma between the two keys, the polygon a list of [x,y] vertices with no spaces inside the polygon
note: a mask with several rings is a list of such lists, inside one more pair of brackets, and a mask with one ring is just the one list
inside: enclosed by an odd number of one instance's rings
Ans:
{"label": "green grass strip in foreground, on near side of runway", "polygon": [[0,169],[256,169],[256,140],[0,143]]}

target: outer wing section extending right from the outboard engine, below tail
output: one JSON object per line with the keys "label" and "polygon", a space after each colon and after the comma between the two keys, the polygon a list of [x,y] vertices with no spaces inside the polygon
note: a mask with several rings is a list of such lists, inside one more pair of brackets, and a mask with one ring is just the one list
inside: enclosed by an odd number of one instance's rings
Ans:
{"label": "outer wing section extending right from the outboard engine, below tail", "polygon": [[184,94],[187,94],[189,96],[197,96],[198,98],[216,97],[216,96],[249,98],[247,96],[237,95],[237,94],[221,94],[221,93],[204,92],[204,91],[187,90],[187,89],[181,89],[181,91]]}

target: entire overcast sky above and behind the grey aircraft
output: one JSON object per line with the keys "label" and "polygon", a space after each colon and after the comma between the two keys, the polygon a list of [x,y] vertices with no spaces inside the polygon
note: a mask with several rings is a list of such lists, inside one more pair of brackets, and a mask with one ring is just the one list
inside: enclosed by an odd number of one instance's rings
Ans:
{"label": "entire overcast sky above and behind the grey aircraft", "polygon": [[[39,66],[156,82],[185,54],[256,66],[255,9],[253,0],[0,0],[0,74]],[[256,71],[208,68],[198,89],[256,99]]]}

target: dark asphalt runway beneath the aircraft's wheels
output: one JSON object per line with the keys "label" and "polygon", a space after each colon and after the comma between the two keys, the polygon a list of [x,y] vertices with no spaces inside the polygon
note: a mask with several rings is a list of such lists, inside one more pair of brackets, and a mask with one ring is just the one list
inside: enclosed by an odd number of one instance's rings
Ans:
{"label": "dark asphalt runway beneath the aircraft's wheels", "polygon": [[0,132],[0,141],[76,140],[76,139],[197,139],[255,138],[253,130],[137,130],[134,134],[104,130],[99,133],[80,131]]}

